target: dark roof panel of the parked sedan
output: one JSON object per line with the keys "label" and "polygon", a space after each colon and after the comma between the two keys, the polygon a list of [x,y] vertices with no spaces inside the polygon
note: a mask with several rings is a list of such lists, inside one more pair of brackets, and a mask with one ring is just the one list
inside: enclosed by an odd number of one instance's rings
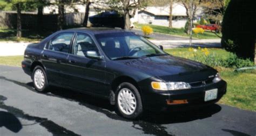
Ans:
{"label": "dark roof panel of the parked sedan", "polygon": [[74,28],[74,29],[67,29],[63,31],[87,32],[93,35],[97,35],[100,33],[131,32],[123,29],[114,29],[114,28]]}

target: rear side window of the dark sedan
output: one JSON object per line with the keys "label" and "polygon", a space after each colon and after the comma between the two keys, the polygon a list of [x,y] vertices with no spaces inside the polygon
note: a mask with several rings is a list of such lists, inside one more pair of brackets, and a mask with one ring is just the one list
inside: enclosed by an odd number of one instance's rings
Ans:
{"label": "rear side window of the dark sedan", "polygon": [[51,40],[49,50],[68,53],[73,35],[73,32],[60,33]]}

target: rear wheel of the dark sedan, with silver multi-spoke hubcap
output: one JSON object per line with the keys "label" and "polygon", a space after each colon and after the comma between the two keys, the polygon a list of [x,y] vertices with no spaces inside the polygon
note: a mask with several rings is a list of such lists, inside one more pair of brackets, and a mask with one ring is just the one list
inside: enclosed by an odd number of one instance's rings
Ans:
{"label": "rear wheel of the dark sedan, with silver multi-spoke hubcap", "polygon": [[49,87],[49,83],[42,66],[36,66],[35,69],[33,69],[32,80],[36,91],[46,92],[46,89]]}

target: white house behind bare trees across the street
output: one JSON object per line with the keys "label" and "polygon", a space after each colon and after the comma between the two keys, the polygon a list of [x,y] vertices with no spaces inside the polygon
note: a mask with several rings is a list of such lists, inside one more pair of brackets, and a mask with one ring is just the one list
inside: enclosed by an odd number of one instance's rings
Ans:
{"label": "white house behind bare trees across the street", "polygon": [[[148,6],[143,10],[139,10],[134,16],[132,22],[140,24],[153,24],[161,26],[169,26],[169,11],[170,5],[166,6]],[[196,11],[196,18],[200,19],[203,16],[202,10],[199,8]],[[172,6],[172,26],[173,28],[184,28],[187,21],[186,9],[183,4],[173,3]]]}

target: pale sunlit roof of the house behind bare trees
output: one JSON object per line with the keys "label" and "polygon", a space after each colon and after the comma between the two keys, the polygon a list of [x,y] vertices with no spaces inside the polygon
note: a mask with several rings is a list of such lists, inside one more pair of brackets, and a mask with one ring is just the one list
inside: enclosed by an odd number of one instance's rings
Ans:
{"label": "pale sunlit roof of the house behind bare trees", "polygon": [[[170,5],[166,6],[147,6],[146,9],[140,10],[152,13],[155,16],[169,16]],[[196,15],[203,14],[201,8],[197,9]],[[187,16],[186,9],[183,4],[173,3],[172,5],[172,16]]]}

